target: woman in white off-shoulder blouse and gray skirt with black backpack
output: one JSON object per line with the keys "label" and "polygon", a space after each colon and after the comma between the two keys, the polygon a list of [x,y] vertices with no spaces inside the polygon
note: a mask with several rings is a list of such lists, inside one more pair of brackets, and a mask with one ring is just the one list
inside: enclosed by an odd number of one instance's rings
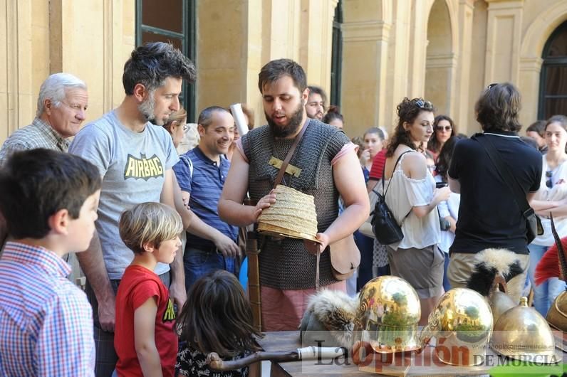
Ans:
{"label": "woman in white off-shoulder blouse and gray skirt with black backpack", "polygon": [[435,188],[435,179],[421,153],[433,134],[433,105],[422,98],[397,105],[399,120],[387,147],[385,201],[401,225],[404,238],[388,245],[392,275],[412,285],[420,297],[422,317],[427,317],[443,294],[444,253],[437,248],[440,228],[437,204],[449,198],[448,187]]}

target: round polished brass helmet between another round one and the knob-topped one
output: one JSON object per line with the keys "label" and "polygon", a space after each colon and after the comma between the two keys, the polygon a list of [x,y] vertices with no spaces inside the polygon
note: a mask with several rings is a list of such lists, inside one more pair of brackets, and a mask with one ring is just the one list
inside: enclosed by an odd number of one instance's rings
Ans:
{"label": "round polished brass helmet between another round one and the knob-topped one", "polygon": [[481,294],[468,288],[454,288],[437,302],[420,340],[425,346],[435,336],[435,354],[444,363],[478,365],[484,362],[492,323],[489,304]]}

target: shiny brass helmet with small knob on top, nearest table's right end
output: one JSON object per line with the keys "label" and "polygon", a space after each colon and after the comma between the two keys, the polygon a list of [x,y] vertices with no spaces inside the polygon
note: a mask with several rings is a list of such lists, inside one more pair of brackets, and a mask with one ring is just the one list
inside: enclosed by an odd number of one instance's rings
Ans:
{"label": "shiny brass helmet with small knob on top, nearest table's right end", "polygon": [[517,307],[502,314],[494,325],[491,349],[511,359],[536,363],[556,363],[553,333],[536,309],[521,297]]}

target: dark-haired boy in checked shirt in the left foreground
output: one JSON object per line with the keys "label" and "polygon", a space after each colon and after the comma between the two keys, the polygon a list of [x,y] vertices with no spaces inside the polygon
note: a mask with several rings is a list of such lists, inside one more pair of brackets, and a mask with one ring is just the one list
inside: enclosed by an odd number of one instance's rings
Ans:
{"label": "dark-haired boy in checked shirt in the left foreground", "polygon": [[15,152],[0,170],[1,376],[93,376],[93,311],[62,257],[88,248],[99,196],[98,169],[71,154]]}

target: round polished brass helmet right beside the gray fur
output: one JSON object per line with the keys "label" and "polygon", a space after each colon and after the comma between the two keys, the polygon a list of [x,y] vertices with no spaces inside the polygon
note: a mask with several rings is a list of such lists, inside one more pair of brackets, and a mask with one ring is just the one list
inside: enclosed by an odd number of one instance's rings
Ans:
{"label": "round polished brass helmet right beside the gray fur", "polygon": [[420,298],[397,276],[375,277],[360,290],[354,341],[368,342],[375,352],[393,354],[420,349],[417,324]]}

